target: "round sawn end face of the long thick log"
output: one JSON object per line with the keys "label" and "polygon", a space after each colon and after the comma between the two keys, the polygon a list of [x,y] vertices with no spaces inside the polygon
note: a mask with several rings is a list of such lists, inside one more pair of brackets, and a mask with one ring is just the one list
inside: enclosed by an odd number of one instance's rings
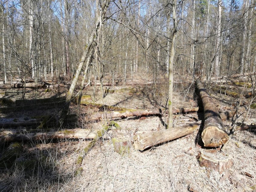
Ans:
{"label": "round sawn end face of the long thick log", "polygon": [[216,126],[209,126],[202,132],[205,147],[218,147],[229,140],[227,133]]}

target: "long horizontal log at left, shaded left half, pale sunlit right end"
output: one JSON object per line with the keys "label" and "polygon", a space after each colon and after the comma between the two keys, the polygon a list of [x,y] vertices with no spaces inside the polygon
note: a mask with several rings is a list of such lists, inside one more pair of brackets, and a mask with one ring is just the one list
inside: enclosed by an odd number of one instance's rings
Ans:
{"label": "long horizontal log at left, shaded left half, pale sunlit right end", "polygon": [[[0,131],[0,142],[37,141],[46,139],[94,139],[99,136],[99,131],[101,130],[66,129],[55,131],[42,129],[2,129]],[[104,133],[102,134],[104,135]]]}

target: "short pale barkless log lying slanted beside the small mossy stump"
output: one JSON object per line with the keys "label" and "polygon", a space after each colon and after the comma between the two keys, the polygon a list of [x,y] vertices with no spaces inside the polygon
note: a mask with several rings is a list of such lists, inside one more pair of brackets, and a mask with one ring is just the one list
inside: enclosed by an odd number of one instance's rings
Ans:
{"label": "short pale barkless log lying slanted beside the small mossy stump", "polygon": [[168,142],[173,139],[178,139],[193,133],[199,125],[200,123],[190,123],[187,125],[174,127],[172,129],[160,130],[153,133],[137,134],[134,136],[133,146],[135,149],[142,151],[154,145]]}

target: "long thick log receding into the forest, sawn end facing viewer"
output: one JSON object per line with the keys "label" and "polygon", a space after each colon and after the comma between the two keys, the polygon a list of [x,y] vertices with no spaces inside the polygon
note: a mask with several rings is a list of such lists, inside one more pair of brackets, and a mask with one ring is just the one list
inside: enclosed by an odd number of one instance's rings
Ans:
{"label": "long thick log receding into the forest, sawn end facing viewer", "polygon": [[226,143],[229,140],[229,136],[224,129],[218,108],[200,81],[197,81],[197,88],[204,108],[204,127],[202,133],[204,146],[218,147]]}

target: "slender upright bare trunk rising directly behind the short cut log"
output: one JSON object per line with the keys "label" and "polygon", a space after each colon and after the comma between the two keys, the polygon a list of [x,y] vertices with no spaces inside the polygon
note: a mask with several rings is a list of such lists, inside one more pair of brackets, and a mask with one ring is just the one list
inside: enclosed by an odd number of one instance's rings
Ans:
{"label": "slender upright bare trunk rising directly behind the short cut log", "polygon": [[175,40],[177,34],[177,20],[176,20],[176,0],[172,0],[172,20],[173,20],[173,29],[172,29],[172,45],[171,45],[171,53],[169,59],[169,100],[168,100],[168,112],[169,112],[169,120],[168,120],[168,129],[172,127],[172,91],[173,91],[173,63],[175,56]]}

